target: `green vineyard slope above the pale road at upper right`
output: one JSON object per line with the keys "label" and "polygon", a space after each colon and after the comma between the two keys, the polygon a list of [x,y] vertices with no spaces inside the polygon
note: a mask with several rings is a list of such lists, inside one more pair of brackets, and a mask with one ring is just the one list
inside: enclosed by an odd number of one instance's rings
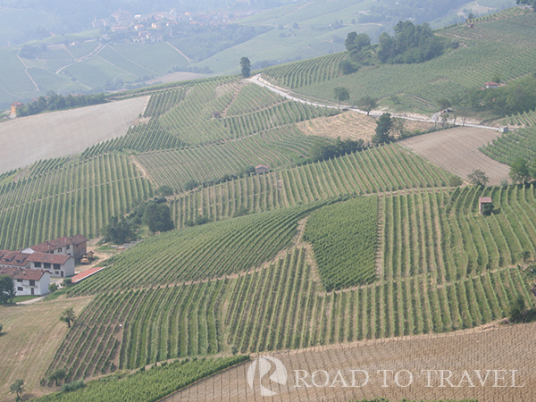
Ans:
{"label": "green vineyard slope above the pale road at upper right", "polygon": [[[474,29],[464,24],[441,30],[441,36],[455,38],[464,46],[426,63],[384,64],[337,76],[331,71],[338,72],[341,53],[316,59],[314,64],[307,60],[273,67],[264,76],[306,96],[332,99],[333,88],[346,87],[358,97],[397,95],[407,109],[430,112],[437,109],[438,94],[452,96],[466,88],[480,88],[496,75],[507,81],[532,73],[535,27],[536,16],[525,11],[476,21]],[[320,79],[312,80],[311,70],[321,66],[322,71],[314,73]]]}

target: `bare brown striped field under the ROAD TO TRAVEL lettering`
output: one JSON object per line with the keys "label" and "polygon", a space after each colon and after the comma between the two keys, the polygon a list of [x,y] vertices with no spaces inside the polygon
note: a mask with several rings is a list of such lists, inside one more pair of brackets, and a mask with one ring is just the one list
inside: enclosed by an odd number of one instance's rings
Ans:
{"label": "bare brown striped field under the ROAD TO TRAVEL lettering", "polygon": [[[276,372],[272,362],[261,379],[257,361],[256,370],[253,367],[250,371],[255,374],[250,377],[252,389],[247,381],[252,363],[247,362],[163,400],[349,401],[382,397],[391,401],[532,401],[536,390],[535,331],[536,323],[489,324],[439,335],[274,353],[266,356],[284,364],[287,381],[276,374],[282,372]],[[261,384],[276,395],[264,398]]]}

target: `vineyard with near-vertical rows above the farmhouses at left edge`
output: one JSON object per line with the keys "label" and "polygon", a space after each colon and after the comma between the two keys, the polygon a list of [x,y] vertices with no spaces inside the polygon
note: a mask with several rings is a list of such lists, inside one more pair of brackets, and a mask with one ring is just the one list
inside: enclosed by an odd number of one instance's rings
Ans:
{"label": "vineyard with near-vertical rows above the farmhouses at left edge", "polygon": [[[44,164],[44,163],[43,163]],[[0,249],[20,249],[62,236],[95,237],[113,215],[126,214],[153,189],[121,155],[101,155],[0,186]],[[41,167],[39,167],[41,166]],[[48,169],[53,170],[48,170]]]}

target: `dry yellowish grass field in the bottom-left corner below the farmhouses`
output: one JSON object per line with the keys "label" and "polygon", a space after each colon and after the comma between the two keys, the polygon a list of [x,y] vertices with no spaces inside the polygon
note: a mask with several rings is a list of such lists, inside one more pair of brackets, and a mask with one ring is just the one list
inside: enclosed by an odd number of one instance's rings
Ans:
{"label": "dry yellowish grass field in the bottom-left corner below the farmhouses", "polygon": [[67,307],[77,315],[93,297],[39,301],[31,305],[0,306],[0,400],[15,400],[9,386],[24,380],[25,398],[39,396],[39,381],[45,375],[57,348],[68,331],[59,317]]}

